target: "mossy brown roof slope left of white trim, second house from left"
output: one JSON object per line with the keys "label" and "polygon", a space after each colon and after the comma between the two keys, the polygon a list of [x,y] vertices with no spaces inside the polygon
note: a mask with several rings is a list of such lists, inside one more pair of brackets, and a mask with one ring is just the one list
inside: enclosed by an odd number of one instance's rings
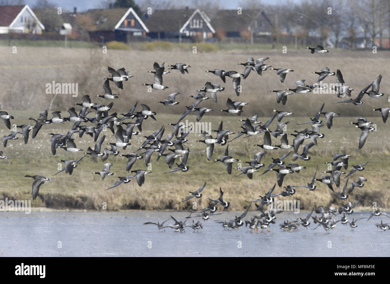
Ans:
{"label": "mossy brown roof slope left of white trim, second house from left", "polygon": [[97,23],[93,30],[113,30],[128,10],[129,8],[91,9],[85,15]]}

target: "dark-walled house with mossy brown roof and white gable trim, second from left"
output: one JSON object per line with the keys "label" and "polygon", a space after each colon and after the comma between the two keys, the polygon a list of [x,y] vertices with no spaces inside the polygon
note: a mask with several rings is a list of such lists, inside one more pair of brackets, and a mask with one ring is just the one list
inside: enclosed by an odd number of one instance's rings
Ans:
{"label": "dark-walled house with mossy brown roof and white gable trim, second from left", "polygon": [[94,26],[88,28],[92,41],[131,41],[131,37],[145,37],[149,29],[133,8],[92,9],[89,16]]}

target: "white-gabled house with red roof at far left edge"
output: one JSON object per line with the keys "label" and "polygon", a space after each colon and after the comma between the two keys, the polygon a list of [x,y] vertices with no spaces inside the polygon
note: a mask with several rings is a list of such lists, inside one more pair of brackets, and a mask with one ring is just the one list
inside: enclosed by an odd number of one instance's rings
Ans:
{"label": "white-gabled house with red roof at far left edge", "polygon": [[0,6],[0,34],[41,34],[44,29],[28,5]]}

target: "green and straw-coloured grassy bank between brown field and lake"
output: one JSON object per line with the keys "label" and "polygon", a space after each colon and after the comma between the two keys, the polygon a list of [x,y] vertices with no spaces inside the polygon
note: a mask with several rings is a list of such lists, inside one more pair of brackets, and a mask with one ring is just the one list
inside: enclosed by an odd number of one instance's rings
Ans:
{"label": "green and straw-coloured grassy bank between brown field and lake", "polygon": [[[30,117],[30,112],[15,112],[15,123],[21,124],[26,122],[26,118]],[[149,135],[158,129],[162,124],[167,124],[177,119],[173,115],[157,115],[157,122],[148,119],[144,122],[142,135]],[[188,115],[188,120],[191,122],[195,118],[194,115]],[[296,122],[306,121],[307,117],[288,118],[290,123],[287,125],[287,131],[293,132],[295,129],[301,129],[295,125]],[[378,117],[370,117],[370,121],[378,121]],[[202,120],[210,122],[213,129],[218,127],[220,118],[217,116],[205,115]],[[260,118],[262,122],[268,118]],[[383,128],[378,124],[378,131],[371,132],[367,139],[366,145],[362,150],[357,150],[358,138],[360,131],[352,127],[348,122],[355,120],[350,117],[338,117],[334,119],[332,129],[328,130],[322,127],[321,131],[325,134],[323,139],[318,139],[318,146],[310,149],[309,155],[312,157],[310,161],[303,162],[298,160],[298,164],[306,166],[307,169],[301,173],[287,175],[284,179],[284,186],[290,185],[305,185],[310,182],[316,166],[318,169],[318,177],[322,171],[328,170],[325,162],[333,161],[331,156],[333,153],[349,153],[353,157],[350,158],[350,166],[352,164],[360,164],[370,161],[365,166],[362,172],[356,172],[349,178],[349,182],[357,181],[358,176],[365,176],[368,181],[362,188],[355,188],[348,200],[357,201],[363,197],[362,207],[371,208],[372,202],[376,202],[381,208],[390,208],[390,192],[388,191],[388,166],[386,160],[389,158],[388,129]],[[224,119],[224,128],[237,132],[240,122],[238,116],[229,116]],[[276,127],[277,122],[271,124],[271,129]],[[228,175],[222,163],[213,163],[206,160],[206,146],[203,143],[195,142],[197,139],[202,139],[199,133],[191,133],[188,137],[190,142],[191,153],[187,165],[190,170],[186,173],[175,172],[164,174],[169,170],[165,163],[165,158],[162,157],[158,162],[157,155],[153,154],[151,159],[152,173],[145,176],[145,184],[138,187],[137,182],[132,180],[128,184],[122,184],[114,189],[106,191],[108,187],[117,181],[118,176],[130,175],[126,173],[127,159],[124,157],[110,156],[107,162],[112,162],[114,165],[111,168],[113,176],[107,176],[104,181],[100,176],[92,175],[92,171],[100,171],[103,165],[101,158],[85,157],[81,164],[74,170],[73,175],[66,175],[62,172],[56,176],[51,176],[57,173],[59,159],[78,159],[82,157],[82,152],[67,153],[63,149],[57,150],[57,155],[53,156],[50,152],[50,135],[49,132],[66,133],[69,128],[67,125],[45,125],[39,132],[37,138],[30,139],[28,145],[24,145],[22,139],[9,141],[4,153],[8,156],[7,160],[0,161],[0,180],[4,184],[0,190],[0,199],[5,197],[14,199],[31,199],[31,178],[25,178],[24,175],[35,175],[41,173],[52,180],[45,183],[39,192],[39,196],[35,201],[32,201],[32,206],[47,207],[47,208],[76,208],[87,210],[102,210],[103,202],[107,203],[108,210],[124,210],[124,209],[188,209],[192,207],[192,202],[196,201],[197,206],[207,206],[207,198],[218,198],[219,187],[225,191],[224,199],[231,203],[230,210],[242,210],[248,206],[246,200],[255,199],[259,195],[264,195],[276,182],[276,174],[274,172],[266,173],[260,176],[265,168],[261,168],[260,173],[255,173],[253,180],[249,180],[246,176],[235,176],[240,172],[233,170],[232,175]],[[170,126],[166,127],[165,136],[171,133]],[[6,135],[9,132],[2,129],[0,136]],[[342,136],[340,135],[342,133]],[[8,133],[7,133],[8,134]],[[114,142],[115,138],[111,132],[106,132],[107,142]],[[126,150],[120,149],[121,153],[129,153],[137,150],[144,138],[142,135],[134,136]],[[291,136],[290,136],[291,137]],[[76,146],[81,149],[87,149],[88,146],[93,148],[93,142],[86,136],[78,138],[74,136]],[[353,141],[353,142],[351,142]],[[382,144],[377,143],[383,141]],[[273,143],[278,144],[280,141],[273,139]],[[289,138],[292,143],[292,139]],[[105,143],[103,147],[105,147]],[[249,161],[253,158],[254,153],[259,152],[261,148],[253,146],[255,143],[262,144],[262,134],[251,138],[238,138],[229,143],[229,155],[239,159],[238,163]],[[337,149],[337,150],[334,150]],[[300,149],[301,150],[301,149]],[[223,155],[225,146],[216,145],[213,154],[213,159],[218,159]],[[272,161],[271,157],[278,157],[286,153],[287,150],[268,151],[262,162],[267,166]],[[292,154],[291,154],[292,155]],[[177,160],[178,162],[178,160]],[[292,157],[285,159],[286,164],[292,162]],[[234,165],[237,166],[237,165]],[[132,169],[146,169],[143,159],[138,160]],[[177,204],[188,196],[189,191],[195,191],[204,182],[207,182],[201,199],[190,199],[187,202]],[[341,183],[341,189],[344,186],[344,181]],[[328,187],[320,182],[316,182],[317,189],[314,192],[309,192],[305,188],[297,188],[297,193],[293,199],[300,200],[302,210],[309,210],[314,203],[316,205],[333,205],[338,206],[343,202],[336,198]],[[278,186],[275,192],[280,192],[283,188]],[[283,198],[280,198],[283,199]]]}

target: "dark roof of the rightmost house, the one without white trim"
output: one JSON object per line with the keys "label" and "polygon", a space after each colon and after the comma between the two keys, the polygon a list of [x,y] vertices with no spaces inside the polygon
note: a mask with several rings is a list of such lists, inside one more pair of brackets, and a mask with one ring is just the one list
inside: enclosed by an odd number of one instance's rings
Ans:
{"label": "dark roof of the rightmost house, the one without white trim", "polygon": [[[257,21],[257,27],[255,26]],[[224,30],[225,32],[241,32],[249,26],[254,28],[255,32],[271,32],[272,23],[262,10],[242,10],[238,14],[237,10],[220,10],[213,19],[211,25],[215,30]]]}

